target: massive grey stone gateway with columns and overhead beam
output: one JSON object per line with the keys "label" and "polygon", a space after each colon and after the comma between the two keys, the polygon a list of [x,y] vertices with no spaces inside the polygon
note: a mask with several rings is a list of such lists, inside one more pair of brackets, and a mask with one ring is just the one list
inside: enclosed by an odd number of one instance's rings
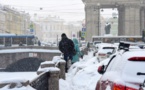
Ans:
{"label": "massive grey stone gateway with columns and overhead beam", "polygon": [[118,35],[139,36],[145,29],[145,0],[82,0],[85,4],[86,40],[100,35],[100,8],[118,9]]}

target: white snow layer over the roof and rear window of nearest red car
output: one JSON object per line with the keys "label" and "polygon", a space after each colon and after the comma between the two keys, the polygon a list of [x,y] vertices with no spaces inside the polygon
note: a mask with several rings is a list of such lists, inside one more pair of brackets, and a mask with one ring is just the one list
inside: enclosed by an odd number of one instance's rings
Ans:
{"label": "white snow layer over the roof and rear window of nearest red car", "polygon": [[[141,60],[140,60],[141,58]],[[110,78],[109,80],[130,85],[129,82],[142,83],[145,75],[139,76],[137,73],[144,71],[145,68],[145,50],[137,49],[130,51],[120,51],[116,57],[111,61],[106,69],[103,79]],[[119,79],[120,80],[119,80]],[[133,85],[133,87],[135,87]]]}

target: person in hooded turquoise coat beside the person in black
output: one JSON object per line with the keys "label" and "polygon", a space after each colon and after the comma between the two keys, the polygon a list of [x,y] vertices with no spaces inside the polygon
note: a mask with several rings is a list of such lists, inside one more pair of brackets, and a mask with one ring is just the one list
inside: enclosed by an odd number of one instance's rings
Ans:
{"label": "person in hooded turquoise coat beside the person in black", "polygon": [[79,48],[79,43],[76,38],[73,39],[73,43],[74,43],[74,48],[75,48],[76,54],[73,55],[72,64],[79,61],[79,57],[82,57],[82,53]]}

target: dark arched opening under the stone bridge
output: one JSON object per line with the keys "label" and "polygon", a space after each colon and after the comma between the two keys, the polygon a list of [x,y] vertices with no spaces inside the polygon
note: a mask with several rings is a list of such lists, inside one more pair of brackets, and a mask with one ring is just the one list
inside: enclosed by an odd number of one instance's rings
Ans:
{"label": "dark arched opening under the stone bridge", "polygon": [[8,65],[4,71],[7,72],[29,72],[29,71],[37,71],[42,60],[40,58],[23,58],[17,60],[16,62]]}

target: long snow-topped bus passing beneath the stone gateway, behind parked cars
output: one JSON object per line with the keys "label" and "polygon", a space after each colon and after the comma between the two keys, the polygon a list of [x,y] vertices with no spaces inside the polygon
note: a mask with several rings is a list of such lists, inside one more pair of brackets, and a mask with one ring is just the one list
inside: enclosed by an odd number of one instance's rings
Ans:
{"label": "long snow-topped bus passing beneath the stone gateway, behind parked cars", "polygon": [[93,36],[92,41],[101,41],[103,43],[142,42],[142,36]]}

